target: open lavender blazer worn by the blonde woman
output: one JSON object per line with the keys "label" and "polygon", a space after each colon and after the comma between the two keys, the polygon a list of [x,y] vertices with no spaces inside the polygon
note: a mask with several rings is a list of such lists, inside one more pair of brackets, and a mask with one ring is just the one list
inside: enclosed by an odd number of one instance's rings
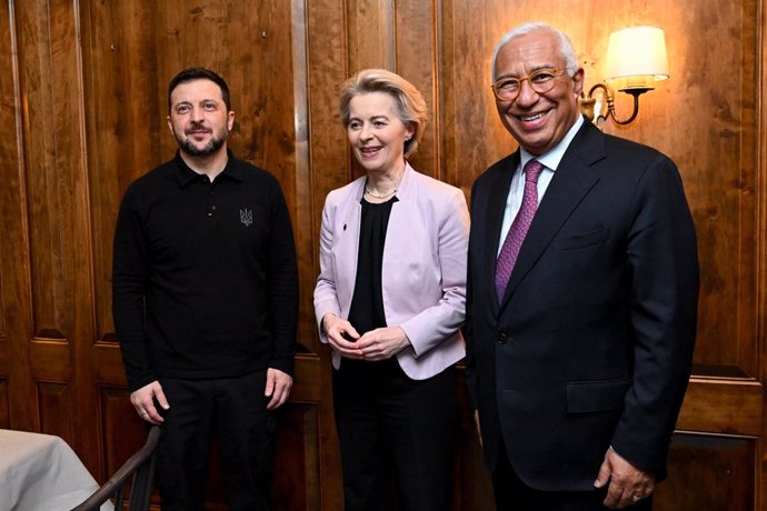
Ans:
{"label": "open lavender blazer worn by the blonde woman", "polygon": [[[320,275],[315,313],[348,319],[357,277],[365,177],[331,191],[322,210]],[[430,378],[466,354],[459,327],[466,318],[469,212],[458,188],[406,164],[384,247],[381,287],[389,327],[399,325],[411,345],[397,354],[414,380]],[[333,367],[341,357],[333,351]]]}

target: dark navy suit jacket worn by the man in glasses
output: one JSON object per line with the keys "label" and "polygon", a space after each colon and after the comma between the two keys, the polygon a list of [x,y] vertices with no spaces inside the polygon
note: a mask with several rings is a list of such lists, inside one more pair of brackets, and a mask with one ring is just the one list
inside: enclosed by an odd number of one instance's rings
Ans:
{"label": "dark navy suit jacket worn by the man in glasses", "polygon": [[674,162],[585,122],[499,304],[494,273],[519,151],[471,192],[467,377],[486,461],[529,485],[589,490],[609,445],[665,477],[690,374],[695,228]]}

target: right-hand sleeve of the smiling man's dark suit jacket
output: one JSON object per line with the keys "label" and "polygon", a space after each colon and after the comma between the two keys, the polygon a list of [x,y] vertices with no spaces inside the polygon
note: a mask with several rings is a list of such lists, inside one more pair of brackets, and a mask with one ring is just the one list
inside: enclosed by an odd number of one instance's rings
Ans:
{"label": "right-hand sleeve of the smiling man's dark suit jacket", "polygon": [[691,370],[699,285],[695,227],[671,160],[648,166],[631,211],[634,378],[611,445],[663,478]]}

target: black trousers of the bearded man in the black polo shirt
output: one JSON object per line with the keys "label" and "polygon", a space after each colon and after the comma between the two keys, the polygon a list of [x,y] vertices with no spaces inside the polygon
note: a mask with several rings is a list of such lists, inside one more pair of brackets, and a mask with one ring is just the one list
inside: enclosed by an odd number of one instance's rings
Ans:
{"label": "black trousers of the bearded man in the black polo shirt", "polygon": [[266,408],[266,370],[217,380],[161,379],[160,384],[170,403],[157,448],[162,511],[205,509],[213,434],[229,509],[270,509],[276,420]]}

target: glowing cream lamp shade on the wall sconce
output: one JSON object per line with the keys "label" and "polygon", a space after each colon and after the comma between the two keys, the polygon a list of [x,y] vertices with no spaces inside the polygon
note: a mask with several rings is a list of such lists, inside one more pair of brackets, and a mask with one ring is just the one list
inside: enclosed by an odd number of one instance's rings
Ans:
{"label": "glowing cream lamp shade on the wall sconce", "polygon": [[666,38],[658,27],[629,27],[610,34],[607,41],[606,81],[621,89],[654,89],[668,78]]}

